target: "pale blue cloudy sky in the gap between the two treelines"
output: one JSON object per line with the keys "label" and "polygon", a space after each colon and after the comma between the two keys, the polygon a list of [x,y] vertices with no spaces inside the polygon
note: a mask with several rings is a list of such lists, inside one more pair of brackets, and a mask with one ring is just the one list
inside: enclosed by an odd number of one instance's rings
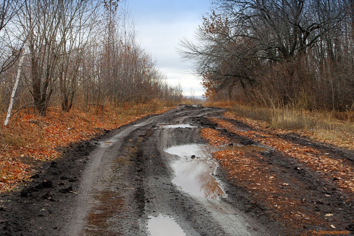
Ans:
{"label": "pale blue cloudy sky in the gap between the two treelines", "polygon": [[129,0],[131,15],[136,23],[143,46],[152,52],[170,84],[181,81],[185,95],[190,88],[202,95],[201,80],[185,71],[190,62],[182,62],[176,52],[179,40],[193,38],[193,31],[209,11],[210,0]]}

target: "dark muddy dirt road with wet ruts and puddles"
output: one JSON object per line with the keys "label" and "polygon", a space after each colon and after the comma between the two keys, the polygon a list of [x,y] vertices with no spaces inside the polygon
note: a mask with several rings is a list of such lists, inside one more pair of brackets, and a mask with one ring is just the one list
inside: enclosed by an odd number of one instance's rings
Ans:
{"label": "dark muddy dirt road with wet ruts and puddles", "polygon": [[[221,117],[223,111],[181,106],[70,146],[62,159],[38,167],[21,191],[1,195],[0,235],[300,235],[230,181],[211,153],[243,150],[262,153],[264,160],[273,156],[275,171],[311,185],[304,193],[308,196],[299,196],[309,201],[322,199],[327,183],[316,173],[298,174],[296,163],[277,160],[274,149],[225,130],[225,136],[244,146],[207,146],[200,129],[216,129],[207,117]],[[353,157],[350,151],[325,148],[343,159]],[[352,200],[341,203],[347,197],[326,199],[329,205],[314,203],[313,211],[335,212],[333,222],[342,224],[338,230],[353,230]]]}

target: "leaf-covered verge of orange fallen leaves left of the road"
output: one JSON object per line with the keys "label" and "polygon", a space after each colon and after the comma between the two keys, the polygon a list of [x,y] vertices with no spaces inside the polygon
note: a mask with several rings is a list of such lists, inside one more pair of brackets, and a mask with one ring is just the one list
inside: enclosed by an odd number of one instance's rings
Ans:
{"label": "leaf-covered verge of orange fallen leaves left of the road", "polygon": [[33,171],[30,160],[55,159],[61,155],[57,148],[89,140],[104,130],[168,109],[154,100],[124,108],[105,108],[100,114],[78,109],[62,113],[59,108],[50,109],[45,117],[21,112],[8,126],[0,128],[0,192],[12,190],[30,178]]}

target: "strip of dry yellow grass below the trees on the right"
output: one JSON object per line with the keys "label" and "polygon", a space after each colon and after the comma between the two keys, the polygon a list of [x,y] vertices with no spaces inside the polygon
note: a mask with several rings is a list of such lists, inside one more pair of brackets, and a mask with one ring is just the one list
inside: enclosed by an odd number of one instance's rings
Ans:
{"label": "strip of dry yellow grass below the trees on the right", "polygon": [[225,101],[206,105],[229,108],[236,117],[248,120],[247,123],[250,125],[257,123],[261,127],[280,128],[341,148],[354,149],[353,108],[348,108],[346,112],[336,113],[333,111],[310,112],[295,106],[272,105],[264,108]]}

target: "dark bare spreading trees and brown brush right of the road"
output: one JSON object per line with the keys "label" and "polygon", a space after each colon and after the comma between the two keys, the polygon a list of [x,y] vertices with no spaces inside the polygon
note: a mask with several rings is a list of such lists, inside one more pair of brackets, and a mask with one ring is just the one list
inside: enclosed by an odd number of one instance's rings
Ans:
{"label": "dark bare spreading trees and brown brush right of the road", "polygon": [[182,40],[209,99],[343,110],[354,104],[352,0],[214,0]]}

